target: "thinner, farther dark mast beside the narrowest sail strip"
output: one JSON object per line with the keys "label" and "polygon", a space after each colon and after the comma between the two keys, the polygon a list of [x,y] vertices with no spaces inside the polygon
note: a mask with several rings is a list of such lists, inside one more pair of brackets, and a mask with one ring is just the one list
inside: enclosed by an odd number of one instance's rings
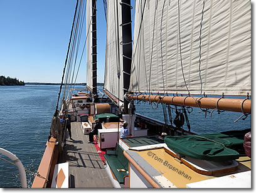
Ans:
{"label": "thinner, farther dark mast beside the narrowest sail strip", "polygon": [[92,93],[97,95],[97,26],[96,26],[96,0],[92,0]]}

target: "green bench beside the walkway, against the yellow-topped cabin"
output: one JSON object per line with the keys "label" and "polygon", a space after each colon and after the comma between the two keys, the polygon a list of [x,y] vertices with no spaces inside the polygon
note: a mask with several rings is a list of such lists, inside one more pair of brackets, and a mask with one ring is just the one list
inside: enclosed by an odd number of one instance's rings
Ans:
{"label": "green bench beside the walkway, against the yellow-topped cabin", "polygon": [[124,149],[119,144],[116,145],[115,150],[107,150],[104,155],[107,164],[112,170],[112,174],[120,184],[124,184],[124,179],[127,177],[129,170],[129,161],[123,154]]}

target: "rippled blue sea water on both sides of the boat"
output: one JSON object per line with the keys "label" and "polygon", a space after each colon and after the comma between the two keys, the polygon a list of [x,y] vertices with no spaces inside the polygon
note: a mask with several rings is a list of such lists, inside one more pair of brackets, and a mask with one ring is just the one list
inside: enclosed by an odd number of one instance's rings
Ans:
{"label": "rippled blue sea water on both sides of the boat", "polygon": [[[82,89],[83,86],[76,88]],[[55,112],[60,86],[0,86],[0,147],[15,154],[25,169],[36,172],[50,132],[51,118]],[[245,121],[233,123],[241,113],[223,112],[213,117],[198,113],[193,108],[189,114],[191,132],[211,133],[224,130],[242,130],[251,127],[250,115]],[[136,112],[164,121],[163,108],[154,110],[149,103],[136,103]],[[174,117],[173,110],[173,117]],[[186,126],[184,126],[186,128]],[[4,159],[4,155],[0,155]],[[35,175],[26,172],[28,187]],[[0,159],[0,187],[20,187],[18,170]]]}

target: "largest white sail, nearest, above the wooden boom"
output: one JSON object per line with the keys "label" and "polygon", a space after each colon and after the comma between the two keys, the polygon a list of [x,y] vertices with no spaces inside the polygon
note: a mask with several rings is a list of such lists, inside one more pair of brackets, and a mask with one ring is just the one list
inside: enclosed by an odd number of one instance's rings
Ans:
{"label": "largest white sail, nearest, above the wooden boom", "polygon": [[129,91],[251,93],[250,1],[136,1]]}

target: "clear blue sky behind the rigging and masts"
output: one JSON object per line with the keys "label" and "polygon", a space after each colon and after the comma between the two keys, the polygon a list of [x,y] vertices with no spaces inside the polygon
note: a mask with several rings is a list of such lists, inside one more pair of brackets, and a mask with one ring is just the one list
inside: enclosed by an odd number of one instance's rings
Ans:
{"label": "clear blue sky behind the rigging and masts", "polygon": [[[61,82],[76,2],[0,0],[0,75],[25,82]],[[97,1],[97,10],[98,82],[103,82],[106,22],[102,0]],[[77,82],[86,82],[86,56]]]}

